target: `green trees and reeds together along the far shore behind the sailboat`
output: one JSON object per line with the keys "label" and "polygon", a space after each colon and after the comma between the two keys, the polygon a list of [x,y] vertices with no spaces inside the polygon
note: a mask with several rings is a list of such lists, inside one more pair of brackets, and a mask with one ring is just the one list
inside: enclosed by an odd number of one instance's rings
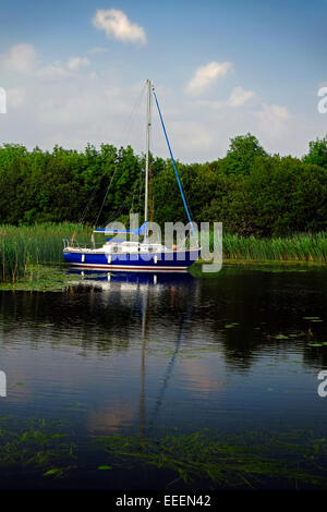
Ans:
{"label": "green trees and reeds together along the far shore behind the sailboat", "polygon": [[[247,133],[223,158],[177,164],[193,220],[222,222],[225,261],[327,263],[327,136],[300,159]],[[187,221],[171,161],[150,155],[150,175],[149,217]],[[143,205],[144,155],[131,146],[0,144],[0,283],[34,281],[37,266],[63,263],[63,239],[89,243],[92,225],[128,225]]]}

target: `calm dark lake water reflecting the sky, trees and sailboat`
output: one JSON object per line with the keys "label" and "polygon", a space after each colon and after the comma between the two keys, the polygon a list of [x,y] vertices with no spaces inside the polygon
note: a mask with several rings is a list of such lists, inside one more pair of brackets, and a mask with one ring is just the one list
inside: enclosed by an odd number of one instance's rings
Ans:
{"label": "calm dark lake water reflecting the sky, trees and sailboat", "polygon": [[203,278],[93,275],[64,292],[0,292],[0,487],[229,488],[233,471],[216,481],[195,464],[184,481],[173,465],[177,453],[194,459],[211,439],[244,444],[242,456],[244,447],[246,456],[264,447],[278,461],[300,458],[324,477],[326,291],[326,267],[270,265]]}

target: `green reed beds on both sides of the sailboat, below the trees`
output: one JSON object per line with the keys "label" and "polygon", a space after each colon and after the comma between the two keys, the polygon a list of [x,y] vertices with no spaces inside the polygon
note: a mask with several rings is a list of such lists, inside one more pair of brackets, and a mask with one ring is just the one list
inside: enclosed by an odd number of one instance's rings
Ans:
{"label": "green reed beds on both sides of the sailboat, below the trees", "polygon": [[[64,272],[58,267],[53,270],[53,265],[63,263],[63,240],[71,239],[75,233],[75,240],[81,245],[89,244],[92,230],[89,225],[69,222],[0,225],[0,283],[8,288],[19,282],[38,281],[45,290],[60,283],[66,284]],[[327,263],[327,232],[272,239],[225,233],[222,247],[223,261],[228,264]],[[52,266],[52,270],[48,267],[47,271],[47,266]],[[51,279],[47,278],[48,273]]]}

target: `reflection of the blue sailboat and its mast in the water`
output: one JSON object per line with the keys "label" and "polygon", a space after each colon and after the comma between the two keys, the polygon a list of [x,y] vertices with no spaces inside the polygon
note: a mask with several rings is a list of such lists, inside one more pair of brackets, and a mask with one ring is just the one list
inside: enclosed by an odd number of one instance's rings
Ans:
{"label": "reflection of the blue sailboat and its mast in the water", "polygon": [[[90,287],[93,291],[100,291],[104,295],[102,303],[110,307],[110,300],[114,304],[123,302],[124,305],[136,309],[141,320],[141,351],[140,351],[140,399],[138,399],[138,435],[141,438],[152,435],[162,403],[165,402],[166,390],[169,386],[170,377],[173,373],[175,358],[179,354],[182,341],[185,339],[190,328],[190,319],[193,312],[193,302],[196,300],[197,280],[187,271],[184,272],[95,272],[72,268],[68,271],[72,276],[82,276],[76,281],[81,287]],[[157,391],[150,411],[146,411],[146,359],[147,359],[147,337],[152,330],[153,312],[160,308],[164,295],[167,298],[169,308],[177,317],[175,326],[172,328],[172,353],[166,361],[166,369],[160,380],[160,388]],[[191,300],[192,297],[192,300]],[[159,314],[160,316],[160,314]],[[107,427],[107,426],[106,426]],[[106,429],[105,429],[106,430]]]}

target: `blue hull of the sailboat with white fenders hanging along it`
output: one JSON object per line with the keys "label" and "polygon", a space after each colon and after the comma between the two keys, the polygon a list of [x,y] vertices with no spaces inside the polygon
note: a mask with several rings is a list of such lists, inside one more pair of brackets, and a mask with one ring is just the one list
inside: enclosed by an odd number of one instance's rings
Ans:
{"label": "blue hull of the sailboat with white fenders hanging along it", "polygon": [[201,249],[156,254],[111,254],[64,251],[64,259],[74,266],[129,271],[178,271],[190,267]]}

